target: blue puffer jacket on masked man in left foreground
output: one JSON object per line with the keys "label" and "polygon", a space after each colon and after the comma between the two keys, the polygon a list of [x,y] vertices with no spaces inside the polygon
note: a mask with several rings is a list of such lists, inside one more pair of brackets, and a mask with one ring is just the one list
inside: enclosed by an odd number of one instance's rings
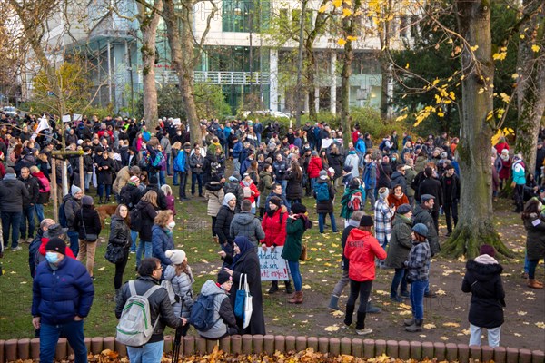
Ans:
{"label": "blue puffer jacket on masked man in left foreground", "polygon": [[42,323],[63,324],[85,318],[93,305],[93,280],[79,261],[64,257],[57,270],[47,261],[38,265],[32,298],[32,316]]}

